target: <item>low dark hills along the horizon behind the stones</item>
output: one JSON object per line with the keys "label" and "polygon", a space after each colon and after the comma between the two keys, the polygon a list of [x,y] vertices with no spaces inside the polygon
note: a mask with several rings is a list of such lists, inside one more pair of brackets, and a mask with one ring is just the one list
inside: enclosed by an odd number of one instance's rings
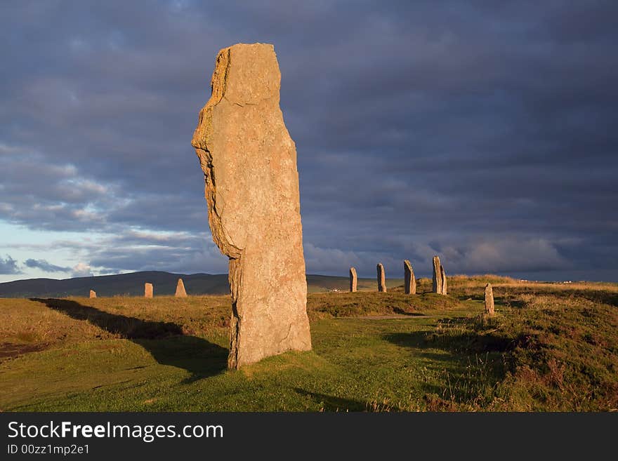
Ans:
{"label": "low dark hills along the horizon behind the stones", "polygon": [[[75,279],[28,279],[0,283],[0,298],[64,298],[88,296],[142,296],[144,283],[154,285],[155,296],[173,295],[176,283],[182,278],[189,295],[224,295],[230,293],[228,274],[171,274],[169,272],[132,272],[131,274],[77,277]],[[307,275],[308,291],[348,290],[348,277]],[[402,280],[388,280],[388,286],[401,285]],[[358,289],[374,289],[374,279],[359,279]]]}

